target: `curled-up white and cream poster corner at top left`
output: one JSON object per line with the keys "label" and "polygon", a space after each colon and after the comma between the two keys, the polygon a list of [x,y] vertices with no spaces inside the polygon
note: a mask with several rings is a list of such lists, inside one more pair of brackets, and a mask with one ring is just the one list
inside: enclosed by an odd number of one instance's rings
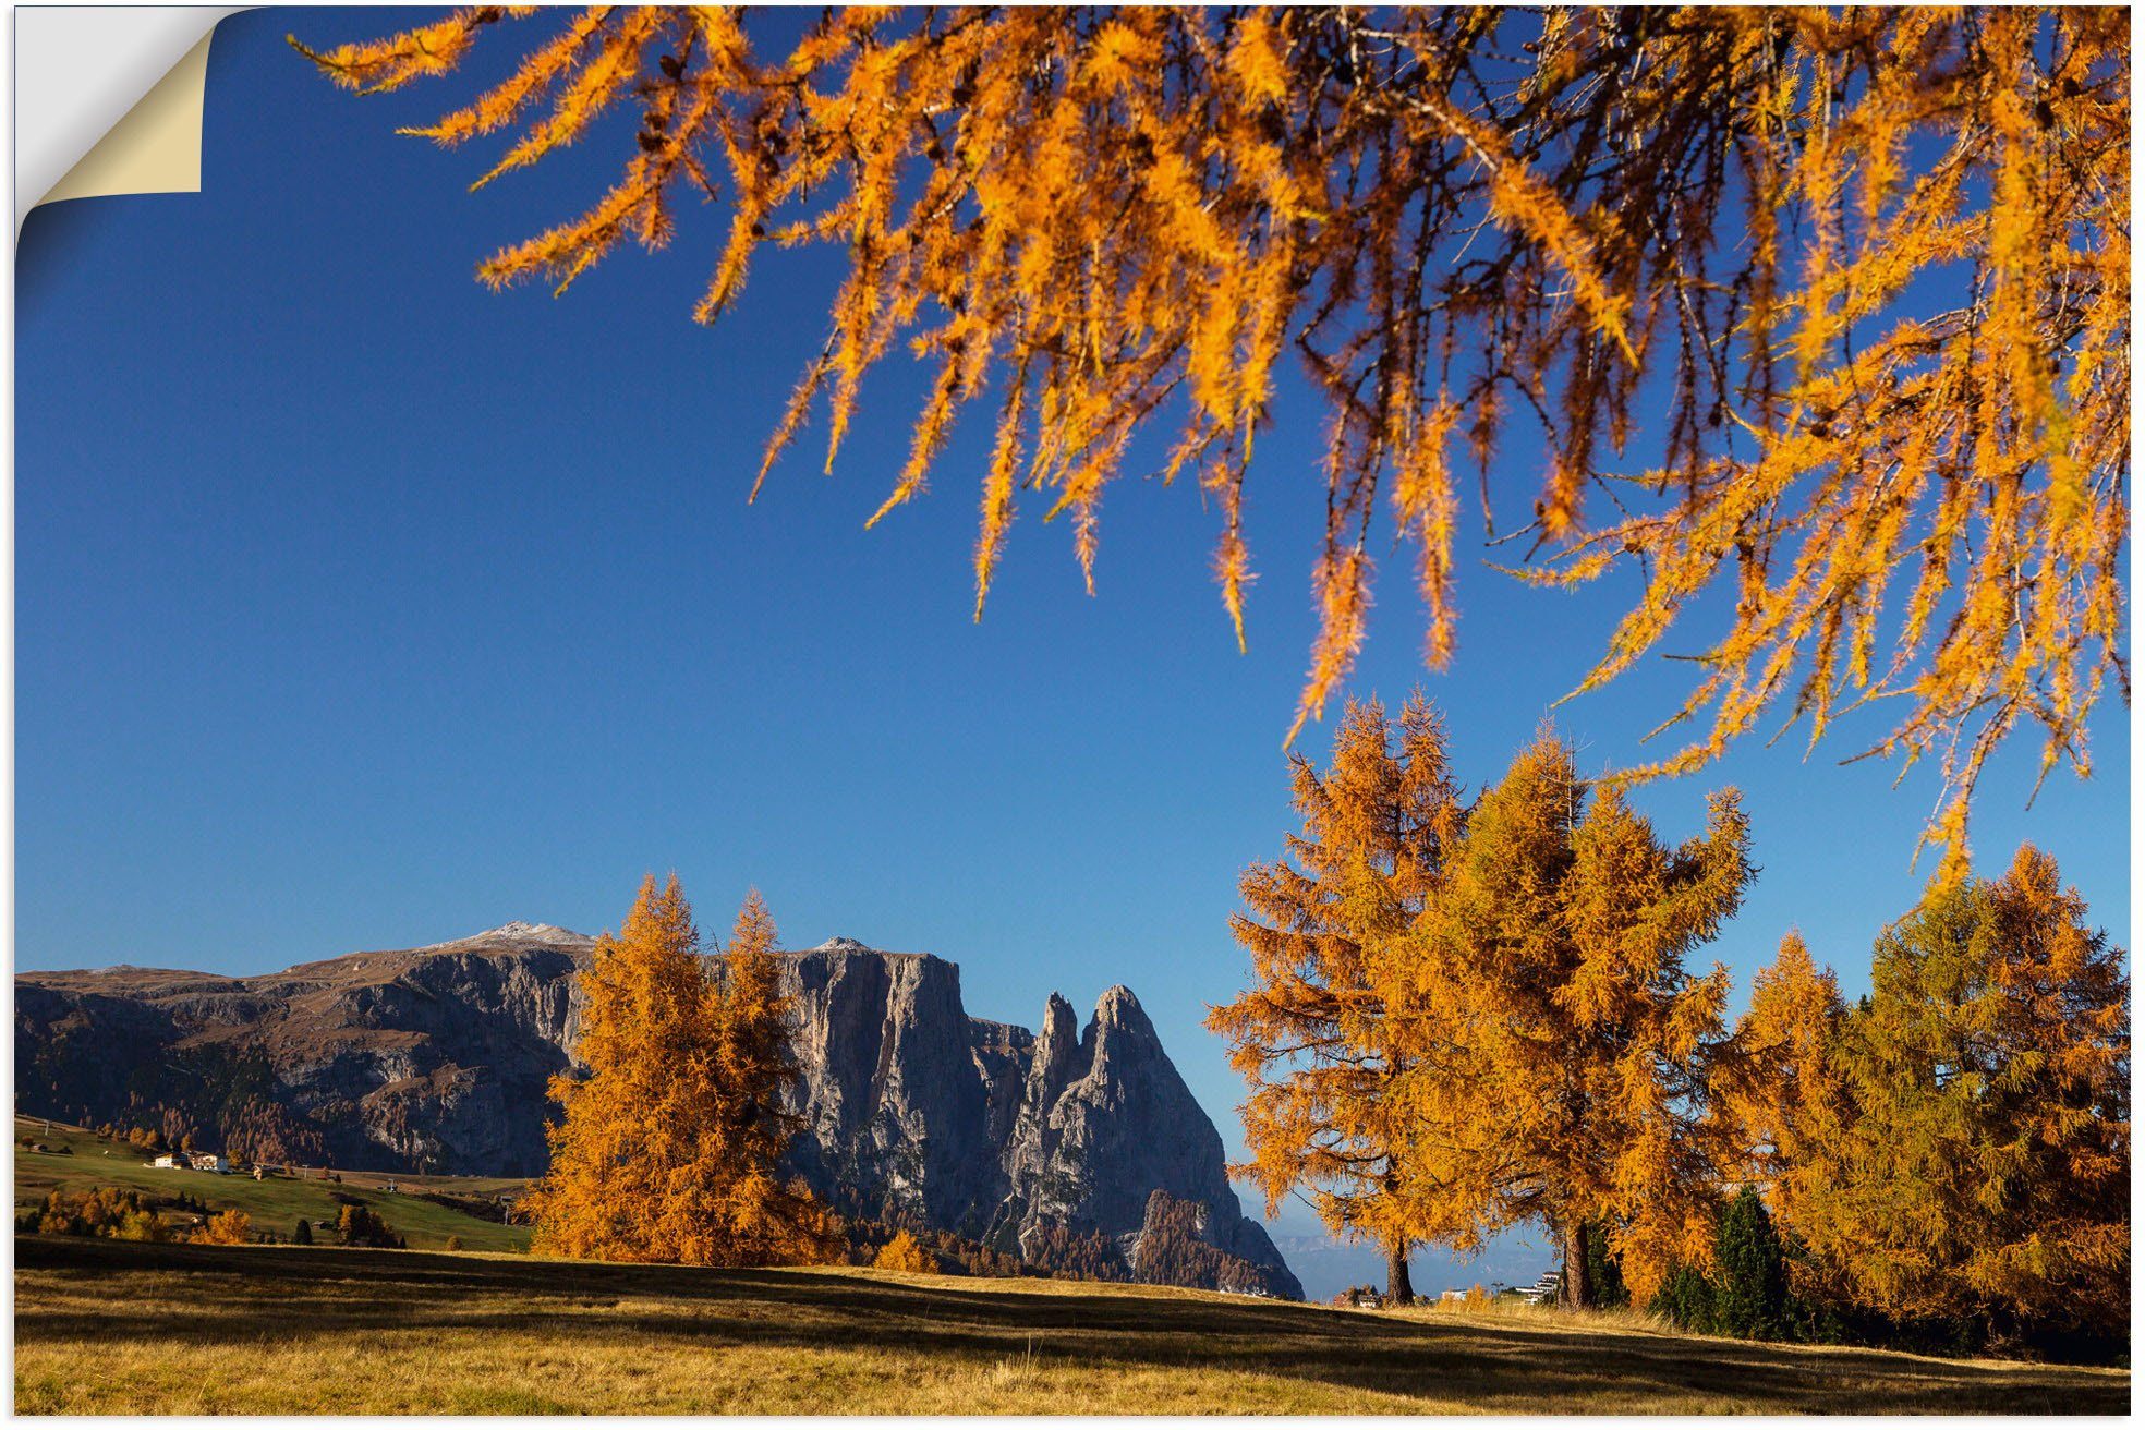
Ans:
{"label": "curled-up white and cream poster corner at top left", "polygon": [[232,6],[15,11],[15,227],[39,204],[199,193],[208,45]]}

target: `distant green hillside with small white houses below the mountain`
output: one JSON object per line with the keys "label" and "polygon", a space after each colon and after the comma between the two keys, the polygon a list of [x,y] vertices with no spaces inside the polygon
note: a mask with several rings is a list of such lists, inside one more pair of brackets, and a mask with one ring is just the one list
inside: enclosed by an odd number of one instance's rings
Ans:
{"label": "distant green hillside with small white houses below the mountain", "polygon": [[[45,1143],[54,1151],[28,1151],[21,1145],[24,1141]],[[58,1151],[60,1147],[69,1147],[71,1153]],[[343,1192],[367,1203],[418,1250],[442,1248],[448,1237],[461,1237],[463,1246],[480,1252],[517,1252],[526,1250],[530,1241],[528,1226],[502,1226],[420,1196],[382,1190],[388,1181],[395,1181],[405,1192],[427,1190],[455,1196],[489,1196],[523,1186],[513,1179],[343,1173],[341,1183],[298,1181],[292,1177],[253,1181],[253,1177],[240,1175],[219,1177],[214,1173],[148,1166],[148,1153],[127,1143],[109,1143],[82,1128],[51,1123],[47,1132],[43,1119],[17,1117],[15,1205],[41,1203],[54,1190],[79,1192],[92,1186],[120,1186],[159,1196],[178,1196],[184,1192],[210,1211],[238,1207],[253,1218],[255,1231],[287,1237],[300,1216],[309,1222],[332,1222],[341,1216],[341,1205],[330,1192]]]}

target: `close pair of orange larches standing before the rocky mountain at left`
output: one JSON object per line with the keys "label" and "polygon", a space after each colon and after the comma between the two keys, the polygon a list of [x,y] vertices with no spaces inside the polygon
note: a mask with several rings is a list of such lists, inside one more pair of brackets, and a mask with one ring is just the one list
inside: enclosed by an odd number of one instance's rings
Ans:
{"label": "close pair of orange larches standing before the rocky mountain at left", "polygon": [[811,1250],[779,1181],[787,1006],[774,924],[755,894],[716,978],[693,907],[650,877],[581,973],[583,1076],[551,1096],[551,1166],[526,1201],[534,1248],[598,1261],[761,1265]]}

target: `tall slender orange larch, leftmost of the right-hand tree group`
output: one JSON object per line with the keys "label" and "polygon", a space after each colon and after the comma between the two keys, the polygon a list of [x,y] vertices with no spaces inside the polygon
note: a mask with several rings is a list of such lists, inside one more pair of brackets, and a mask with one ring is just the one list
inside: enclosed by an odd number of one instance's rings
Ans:
{"label": "tall slender orange larch, leftmost of the right-hand tree group", "polygon": [[1444,723],[1420,695],[1388,720],[1349,701],[1321,774],[1289,757],[1302,832],[1287,858],[1255,864],[1229,920],[1251,952],[1253,986],[1214,1008],[1208,1027],[1251,1083],[1251,1162],[1231,1171],[1266,1194],[1308,1190],[1338,1235],[1388,1254],[1388,1293],[1409,1301],[1411,1235],[1399,1218],[1407,1164],[1390,1089],[1409,1070],[1386,1016],[1390,963],[1437,896],[1463,808],[1446,763]]}

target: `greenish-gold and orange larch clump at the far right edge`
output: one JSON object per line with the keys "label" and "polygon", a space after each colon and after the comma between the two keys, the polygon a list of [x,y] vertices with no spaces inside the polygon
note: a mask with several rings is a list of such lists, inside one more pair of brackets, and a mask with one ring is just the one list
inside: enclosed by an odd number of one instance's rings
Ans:
{"label": "greenish-gold and orange larch clump at the far right edge", "polygon": [[1793,1228],[1898,1319],[2130,1325],[2130,984],[2055,862],[1933,890],[1847,1016]]}

